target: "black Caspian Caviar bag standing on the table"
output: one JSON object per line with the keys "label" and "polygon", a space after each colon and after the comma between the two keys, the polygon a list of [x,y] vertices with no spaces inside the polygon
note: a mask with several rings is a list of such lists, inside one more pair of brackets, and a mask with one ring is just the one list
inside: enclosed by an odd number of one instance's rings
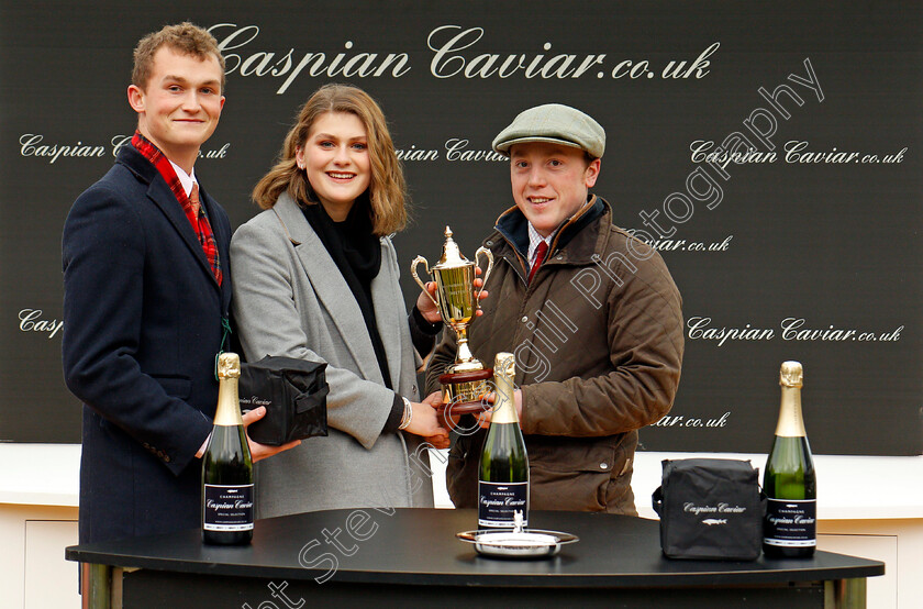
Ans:
{"label": "black Caspian Caviar bag standing on the table", "polygon": [[654,491],[660,547],[669,558],[755,561],[763,546],[766,497],[748,461],[664,461]]}

